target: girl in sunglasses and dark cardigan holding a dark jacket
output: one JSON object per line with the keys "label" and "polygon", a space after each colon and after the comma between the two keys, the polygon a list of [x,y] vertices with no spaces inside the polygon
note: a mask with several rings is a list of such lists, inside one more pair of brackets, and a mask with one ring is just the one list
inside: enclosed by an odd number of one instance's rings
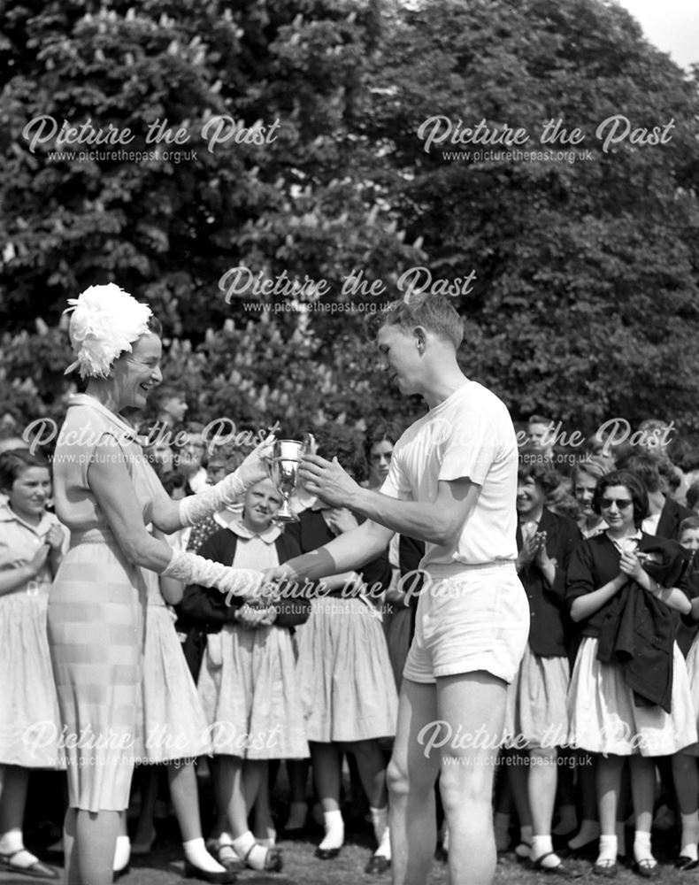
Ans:
{"label": "girl in sunglasses and dark cardigan holding a dark jacket", "polygon": [[[670,624],[670,696],[665,706],[639,705],[639,698],[627,683],[625,666],[614,658],[606,663],[598,658],[603,645],[600,636],[618,613],[619,594],[630,600],[634,612],[648,612],[655,606],[659,622],[667,614],[665,606],[680,612],[687,612],[690,606],[679,589],[665,587],[649,574],[654,571],[651,563],[677,553],[670,543],[641,531],[642,519],[648,512],[648,494],[641,481],[626,470],[608,473],[597,482],[592,507],[603,517],[607,529],[573,550],[566,583],[566,601],[572,620],[580,623],[582,635],[568,696],[569,743],[602,754],[596,760],[602,835],[594,872],[606,876],[617,872],[617,806],[628,757],[634,797],[635,869],[641,876],[653,878],[658,872],[650,850],[653,759],[674,753],[695,740],[687,670],[677,643],[673,643],[672,620],[665,618],[664,622]],[[642,552],[651,546],[657,551],[652,556]],[[641,609],[635,606],[639,597],[632,598],[632,593],[648,593],[655,598]],[[642,597],[640,601],[645,602]],[[634,637],[637,627],[640,624],[632,625]]]}

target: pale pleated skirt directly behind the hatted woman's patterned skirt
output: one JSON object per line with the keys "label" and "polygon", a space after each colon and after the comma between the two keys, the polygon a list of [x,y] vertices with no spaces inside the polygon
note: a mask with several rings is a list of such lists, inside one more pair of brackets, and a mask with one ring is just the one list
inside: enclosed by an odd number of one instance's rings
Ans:
{"label": "pale pleated skirt directly behind the hatted woman's patterned skirt", "polygon": [[[155,575],[157,579],[157,575]],[[211,752],[209,723],[165,605],[146,610],[138,758],[155,765]]]}

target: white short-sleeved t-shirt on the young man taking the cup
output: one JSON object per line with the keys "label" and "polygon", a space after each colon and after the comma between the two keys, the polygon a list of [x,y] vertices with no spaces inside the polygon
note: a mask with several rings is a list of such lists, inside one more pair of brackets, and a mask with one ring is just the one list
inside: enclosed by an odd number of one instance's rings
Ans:
{"label": "white short-sleeved t-shirt on the young man taking the cup", "polygon": [[517,469],[510,412],[490,390],[467,381],[408,427],[380,491],[432,503],[439,481],[469,479],[480,486],[480,496],[464,527],[449,544],[427,543],[420,567],[516,559]]}

